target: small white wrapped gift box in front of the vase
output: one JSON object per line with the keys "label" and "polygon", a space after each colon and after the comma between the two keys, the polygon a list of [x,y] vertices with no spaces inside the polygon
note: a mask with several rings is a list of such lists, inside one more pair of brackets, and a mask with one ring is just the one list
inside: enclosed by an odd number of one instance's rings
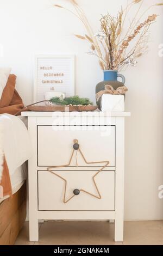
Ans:
{"label": "small white wrapped gift box in front of the vase", "polygon": [[124,111],[124,95],[103,94],[101,97],[102,111]]}

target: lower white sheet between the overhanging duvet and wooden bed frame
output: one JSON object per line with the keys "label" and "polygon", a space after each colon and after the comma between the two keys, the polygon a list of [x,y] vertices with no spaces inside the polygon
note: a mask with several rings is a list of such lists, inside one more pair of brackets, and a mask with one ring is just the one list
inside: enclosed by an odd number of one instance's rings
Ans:
{"label": "lower white sheet between the overhanging duvet and wooden bed frame", "polygon": [[[26,163],[23,163],[10,176],[12,194],[15,194],[21,188],[21,186],[24,184],[24,181],[26,180],[26,178],[27,178],[27,167],[26,167]],[[0,203],[2,203],[2,201],[7,199],[8,197],[9,196],[1,198]]]}

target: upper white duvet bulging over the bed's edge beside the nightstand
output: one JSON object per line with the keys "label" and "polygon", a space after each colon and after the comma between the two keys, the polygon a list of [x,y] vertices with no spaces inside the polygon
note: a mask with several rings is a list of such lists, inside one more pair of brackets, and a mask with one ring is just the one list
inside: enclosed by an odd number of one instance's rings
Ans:
{"label": "upper white duvet bulging over the bed's edge beside the nightstand", "polygon": [[8,164],[10,176],[31,156],[31,142],[23,121],[10,114],[0,115],[0,181],[3,154]]}

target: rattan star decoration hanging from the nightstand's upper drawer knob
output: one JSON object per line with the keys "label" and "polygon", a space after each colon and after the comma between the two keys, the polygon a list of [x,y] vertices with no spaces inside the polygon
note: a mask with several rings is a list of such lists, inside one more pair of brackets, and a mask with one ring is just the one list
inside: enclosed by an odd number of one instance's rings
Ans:
{"label": "rattan star decoration hanging from the nightstand's upper drawer knob", "polygon": [[[97,187],[97,184],[96,184],[96,181],[95,181],[95,177],[96,177],[99,173],[101,173],[102,170],[103,170],[106,166],[108,166],[109,161],[87,162],[86,159],[85,159],[85,157],[84,157],[84,155],[83,155],[83,153],[82,153],[82,151],[80,150],[80,147],[79,147],[79,144],[78,144],[78,140],[77,140],[77,139],[74,139],[73,142],[74,142],[74,144],[73,144],[73,151],[72,151],[72,154],[71,154],[71,157],[70,157],[70,161],[69,161],[67,164],[64,164],[64,165],[62,165],[62,166],[51,166],[51,167],[48,167],[47,170],[48,170],[50,173],[52,173],[53,175],[58,176],[60,179],[64,180],[64,182],[65,182],[64,199],[63,199],[64,204],[68,203],[73,197],[77,196],[80,192],[89,194],[90,196],[95,197],[95,198],[97,198],[97,199],[101,199],[102,197],[101,197],[101,194],[100,194],[100,192],[99,192],[99,190],[98,190],[98,187]],[[98,172],[97,172],[95,175],[93,175],[93,177],[92,177],[93,184],[94,184],[95,187],[96,187],[98,196],[96,196],[96,194],[92,194],[92,193],[90,193],[90,192],[88,192],[88,191],[86,191],[86,190],[83,190],[83,189],[80,189],[80,190],[75,189],[75,190],[73,191],[73,193],[74,193],[73,196],[71,196],[70,198],[68,198],[68,199],[66,200],[67,180],[64,179],[62,176],[60,176],[59,174],[55,173],[52,169],[54,169],[54,168],[59,168],[59,167],[68,167],[68,166],[70,166],[71,161],[72,161],[72,157],[73,157],[75,151],[76,151],[76,165],[77,165],[77,166],[78,166],[78,162],[77,162],[77,153],[78,153],[78,152],[82,155],[82,158],[83,158],[83,160],[85,161],[86,164],[105,163],[104,166],[103,166],[101,169],[99,169]]]}

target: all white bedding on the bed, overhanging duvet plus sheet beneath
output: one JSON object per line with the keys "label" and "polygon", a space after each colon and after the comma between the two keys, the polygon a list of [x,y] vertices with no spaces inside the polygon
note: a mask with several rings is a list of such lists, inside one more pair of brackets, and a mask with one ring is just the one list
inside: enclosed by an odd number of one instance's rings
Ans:
{"label": "all white bedding on the bed, overhanging duvet plus sheet beneath", "polygon": [[[12,194],[16,193],[26,179],[26,164],[32,156],[32,145],[27,130],[27,118],[10,114],[0,115],[0,181],[3,157],[8,164]],[[7,198],[7,197],[5,197]],[[0,203],[5,199],[0,197]]]}

